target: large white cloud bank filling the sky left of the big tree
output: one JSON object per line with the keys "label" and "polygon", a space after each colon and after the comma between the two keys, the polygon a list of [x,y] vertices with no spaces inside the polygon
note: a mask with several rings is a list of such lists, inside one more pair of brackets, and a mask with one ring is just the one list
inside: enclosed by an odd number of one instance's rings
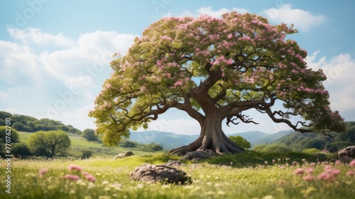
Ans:
{"label": "large white cloud bank filling the sky left of the big tree", "polygon": [[96,31],[72,41],[33,28],[8,31],[18,41],[0,41],[0,109],[92,128],[87,114],[109,77],[112,55],[124,54],[135,36]]}

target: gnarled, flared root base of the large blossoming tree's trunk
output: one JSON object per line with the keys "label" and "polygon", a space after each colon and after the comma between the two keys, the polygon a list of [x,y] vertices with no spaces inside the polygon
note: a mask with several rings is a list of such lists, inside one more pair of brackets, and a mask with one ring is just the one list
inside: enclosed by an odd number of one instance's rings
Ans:
{"label": "gnarled, flared root base of the large blossoming tree's trunk", "polygon": [[237,154],[244,151],[223,134],[222,139],[204,139],[200,136],[196,141],[187,146],[180,146],[169,151],[170,154],[184,156],[184,159],[208,158],[217,154]]}

